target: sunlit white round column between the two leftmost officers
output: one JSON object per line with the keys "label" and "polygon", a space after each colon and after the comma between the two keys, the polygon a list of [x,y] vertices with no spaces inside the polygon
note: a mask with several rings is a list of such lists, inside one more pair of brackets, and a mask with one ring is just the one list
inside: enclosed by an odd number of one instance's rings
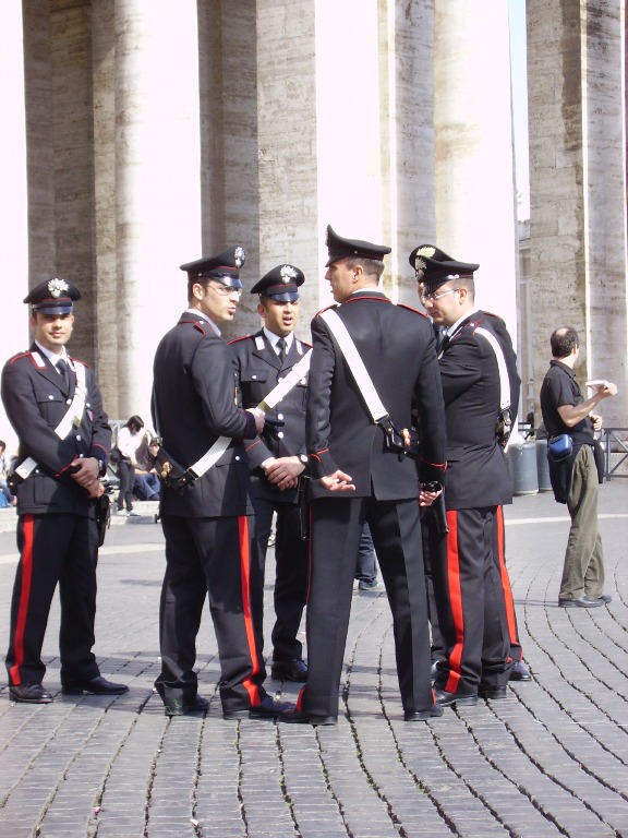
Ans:
{"label": "sunlit white round column between the two leftmost officers", "polygon": [[148,421],[161,335],[202,255],[196,0],[116,0],[118,418]]}

